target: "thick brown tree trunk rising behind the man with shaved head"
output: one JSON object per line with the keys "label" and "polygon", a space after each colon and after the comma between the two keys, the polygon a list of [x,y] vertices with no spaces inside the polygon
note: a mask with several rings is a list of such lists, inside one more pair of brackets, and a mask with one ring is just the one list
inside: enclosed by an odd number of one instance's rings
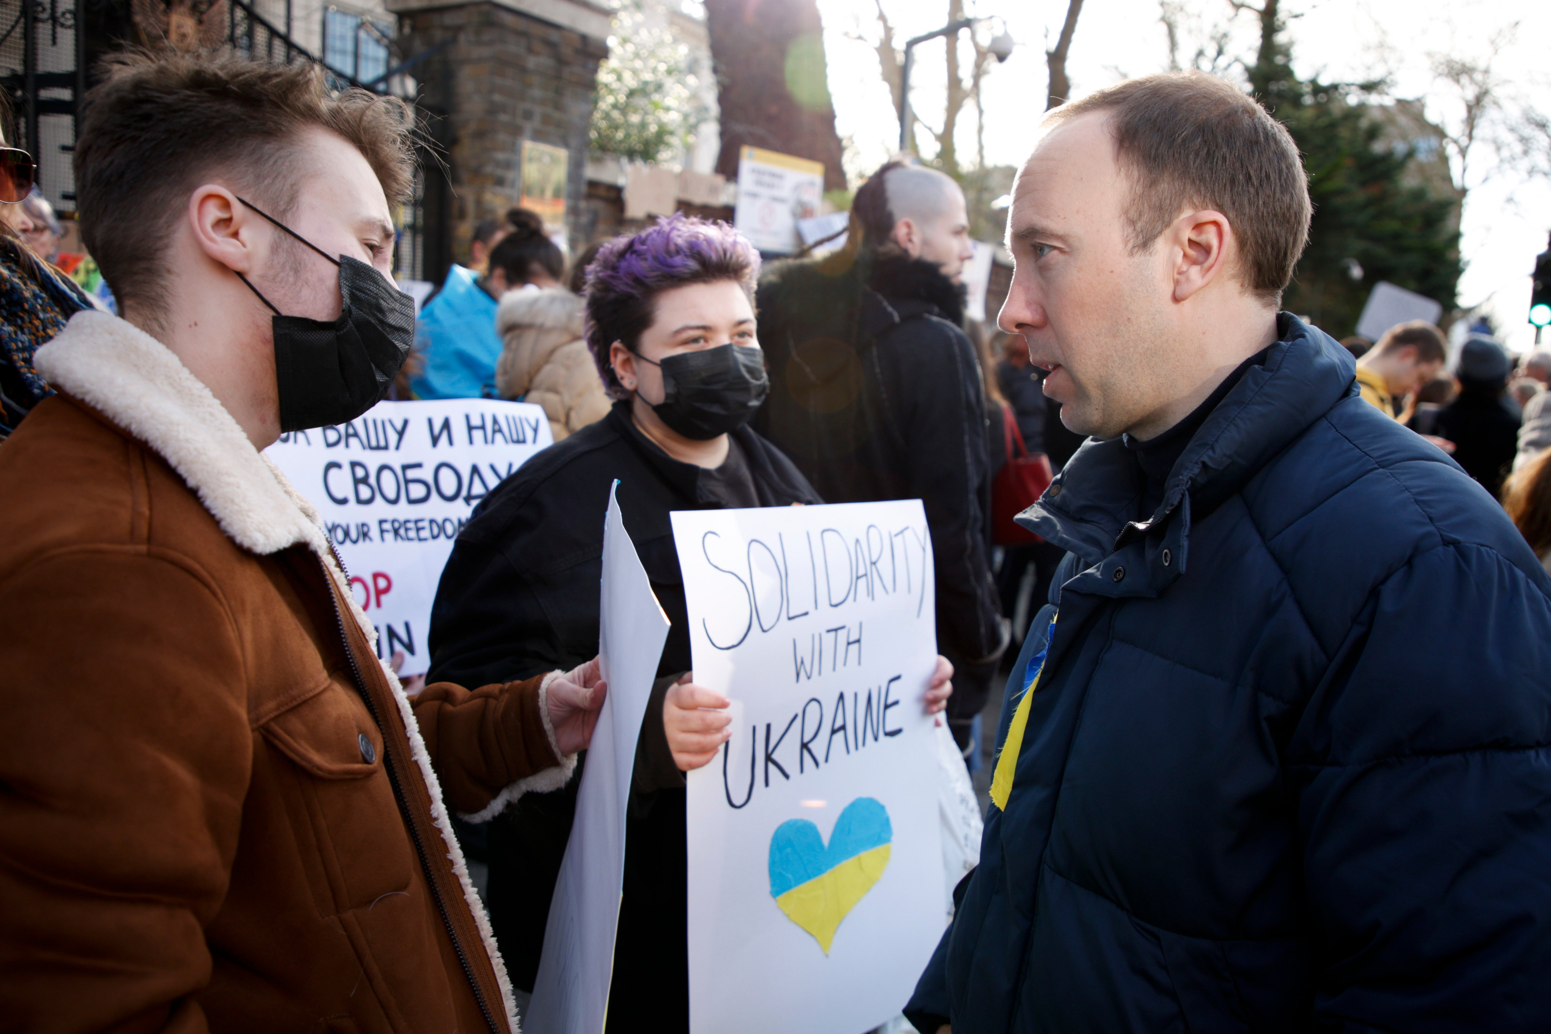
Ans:
{"label": "thick brown tree trunk rising behind the man with shaved head", "polygon": [[717,172],[738,175],[744,146],[824,163],[824,188],[845,188],[841,138],[816,0],[706,0],[721,107]]}

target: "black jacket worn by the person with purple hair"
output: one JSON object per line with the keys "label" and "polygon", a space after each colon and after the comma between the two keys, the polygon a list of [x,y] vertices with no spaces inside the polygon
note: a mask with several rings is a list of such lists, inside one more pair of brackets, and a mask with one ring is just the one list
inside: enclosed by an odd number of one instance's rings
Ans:
{"label": "black jacket worn by the person with purple hair", "polygon": [[[822,502],[777,450],[748,428],[732,433],[760,505]],[[628,405],[558,442],[484,499],[458,536],[431,609],[428,681],[489,685],[569,670],[597,653],[603,513],[619,508],[672,628],[659,676],[690,670],[689,614],[672,510],[713,508],[701,468],[681,464],[636,429]],[[625,898],[614,950],[613,1015],[651,1015],[655,1029],[689,1029],[684,783],[667,757],[661,679],[642,724],[625,850]],[[580,777],[580,769],[579,769]],[[490,921],[512,983],[532,989],[575,788],[526,794],[490,826]]]}

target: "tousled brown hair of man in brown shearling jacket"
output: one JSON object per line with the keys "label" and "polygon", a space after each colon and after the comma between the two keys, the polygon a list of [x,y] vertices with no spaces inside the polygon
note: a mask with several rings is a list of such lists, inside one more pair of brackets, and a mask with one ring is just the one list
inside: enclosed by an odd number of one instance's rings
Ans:
{"label": "tousled brown hair of man in brown shearling jacket", "polygon": [[296,202],[296,141],[310,127],[360,149],[389,205],[413,186],[411,118],[397,98],[330,96],[312,62],[237,56],[110,57],[87,95],[76,144],[81,239],[115,296],[164,312],[166,246],[189,192],[223,172],[284,217]]}

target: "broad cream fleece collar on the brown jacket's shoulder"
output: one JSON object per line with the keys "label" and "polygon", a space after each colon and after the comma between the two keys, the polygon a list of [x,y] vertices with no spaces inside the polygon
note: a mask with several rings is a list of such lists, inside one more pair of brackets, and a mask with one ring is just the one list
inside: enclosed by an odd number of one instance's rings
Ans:
{"label": "broad cream fleece collar on the brown jacket's shoulder", "polygon": [[329,552],[316,512],[296,505],[299,496],[209,388],[144,330],[79,312],[34,363],[50,384],[161,454],[244,549],[268,555],[307,543]]}

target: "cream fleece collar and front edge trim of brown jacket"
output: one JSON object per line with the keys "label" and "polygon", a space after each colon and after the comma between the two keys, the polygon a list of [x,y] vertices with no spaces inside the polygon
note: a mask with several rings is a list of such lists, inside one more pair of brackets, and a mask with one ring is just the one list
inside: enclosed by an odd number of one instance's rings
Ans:
{"label": "cream fleece collar and front edge trim of brown jacket", "polygon": [[[349,606],[355,623],[368,642],[377,645],[377,629],[366,620],[344,572],[335,563],[316,507],[292,487],[268,457],[253,448],[247,433],[214,392],[164,344],[118,316],[81,312],[70,318],[53,341],[37,350],[33,361],[50,384],[87,403],[168,460],[231,541],[261,557],[301,543],[312,547],[333,578],[338,595]],[[496,949],[490,918],[468,877],[462,848],[453,836],[447,806],[442,803],[442,786],[431,769],[431,757],[414,721],[409,698],[405,696],[399,676],[386,663],[383,674],[388,676],[388,685],[392,688],[408,732],[409,755],[431,792],[431,822],[442,834],[464,901],[473,913],[475,925],[495,967],[507,1022],[512,1032],[520,1034],[512,981]],[[549,738],[552,744],[552,732]],[[569,766],[560,766],[565,775],[575,767],[574,757],[568,761]],[[557,778],[565,783],[558,775],[560,769],[530,778],[541,783],[543,789],[552,789],[549,783]],[[510,788],[512,795],[521,789],[538,788],[537,783],[535,786],[526,783],[524,780],[524,786]]]}

